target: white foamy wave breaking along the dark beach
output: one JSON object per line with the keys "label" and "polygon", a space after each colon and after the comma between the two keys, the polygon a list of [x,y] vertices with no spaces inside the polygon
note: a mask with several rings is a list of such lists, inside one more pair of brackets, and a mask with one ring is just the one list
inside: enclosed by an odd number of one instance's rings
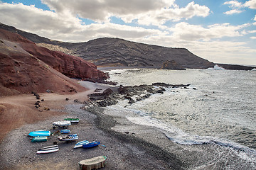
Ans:
{"label": "white foamy wave breaking along the dark beach", "polygon": [[146,125],[161,130],[169,140],[178,145],[218,145],[223,148],[232,149],[241,159],[244,159],[247,162],[256,162],[256,150],[236,142],[212,136],[190,135],[175,126],[166,125],[161,122],[161,120],[152,118],[151,113],[144,113],[143,111],[136,109],[124,108],[120,105],[109,106],[108,108],[114,110],[114,112],[119,111],[120,113],[124,113],[125,111],[126,114],[135,113],[139,115],[134,116],[128,114],[126,118],[132,123]]}

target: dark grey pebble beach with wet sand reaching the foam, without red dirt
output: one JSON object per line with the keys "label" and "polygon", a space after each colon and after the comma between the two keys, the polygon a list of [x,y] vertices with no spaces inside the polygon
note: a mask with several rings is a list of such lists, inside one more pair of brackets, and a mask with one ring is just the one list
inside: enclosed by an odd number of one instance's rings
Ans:
{"label": "dark grey pebble beach with wet sand reaching the foam, without red dirt", "polygon": [[[116,113],[109,108],[80,109],[86,93],[91,93],[100,86],[101,92],[108,87],[105,84],[82,83],[89,91],[70,96],[59,96],[65,103],[63,108],[56,108],[64,114],[52,116],[37,123],[26,124],[9,132],[0,143],[0,169],[79,169],[82,159],[107,155],[105,168],[102,169],[222,169],[246,162],[240,157],[233,157],[235,150],[220,145],[178,145],[169,140],[162,130],[138,125],[127,119],[131,113]],[[48,95],[48,94],[46,94]],[[55,96],[55,94],[52,94]],[[49,96],[50,97],[50,96]],[[66,113],[66,114],[65,114]],[[98,140],[101,145],[92,149],[73,149],[75,142],[58,142],[60,151],[52,154],[36,154],[41,147],[53,145],[56,137],[50,136],[48,142],[30,142],[28,132],[33,130],[52,130],[52,122],[67,117],[78,117],[80,123],[71,125],[71,133],[77,133],[79,140]],[[58,129],[57,129],[58,130]],[[215,157],[215,159],[213,159]],[[233,167],[233,168],[232,168]],[[252,169],[252,165],[245,169]]]}

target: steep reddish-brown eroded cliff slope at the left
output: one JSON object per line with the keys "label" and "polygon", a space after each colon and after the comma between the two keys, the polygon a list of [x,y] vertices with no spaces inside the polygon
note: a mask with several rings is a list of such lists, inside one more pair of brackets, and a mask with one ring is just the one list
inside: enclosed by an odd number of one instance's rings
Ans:
{"label": "steep reddish-brown eroded cliff slope at the left", "polygon": [[79,57],[38,47],[21,35],[0,29],[0,96],[47,89],[59,94],[86,90],[69,77],[105,79],[107,75]]}

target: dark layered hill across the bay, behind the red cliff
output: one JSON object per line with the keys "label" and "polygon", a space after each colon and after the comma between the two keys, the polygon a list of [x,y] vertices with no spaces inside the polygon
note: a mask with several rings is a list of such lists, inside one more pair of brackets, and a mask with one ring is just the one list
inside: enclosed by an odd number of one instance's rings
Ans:
{"label": "dark layered hill across the bay, behind the red cliff", "polygon": [[[60,42],[0,23],[0,28],[18,33],[38,46],[74,55],[97,67],[149,67],[157,69],[206,69],[215,63],[194,55],[185,48],[161,47],[119,38],[98,38],[88,42]],[[220,64],[219,64],[220,65]],[[251,70],[254,67],[221,64],[225,69]]]}

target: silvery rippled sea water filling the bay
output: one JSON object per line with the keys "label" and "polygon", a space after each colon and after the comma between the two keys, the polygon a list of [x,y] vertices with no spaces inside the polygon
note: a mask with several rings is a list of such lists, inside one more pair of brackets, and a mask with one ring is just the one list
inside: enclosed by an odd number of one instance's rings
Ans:
{"label": "silvery rippled sea water filling the bay", "polygon": [[165,88],[164,94],[132,105],[119,101],[110,108],[139,115],[127,119],[159,128],[177,145],[214,145],[226,159],[236,157],[235,169],[256,169],[256,71],[116,69],[109,73],[111,81],[123,86],[191,84],[188,89]]}

